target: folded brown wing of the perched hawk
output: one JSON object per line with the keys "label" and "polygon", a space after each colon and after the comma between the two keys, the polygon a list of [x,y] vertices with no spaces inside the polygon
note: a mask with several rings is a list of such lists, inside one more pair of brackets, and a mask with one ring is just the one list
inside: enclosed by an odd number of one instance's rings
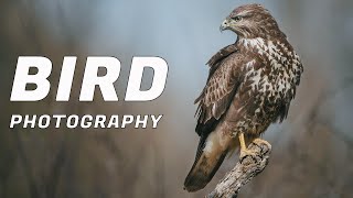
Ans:
{"label": "folded brown wing of the perched hawk", "polygon": [[240,82],[244,57],[236,53],[235,44],[217,52],[208,62],[207,84],[200,97],[196,111],[196,133],[206,138],[215,128],[221,117],[227,111]]}

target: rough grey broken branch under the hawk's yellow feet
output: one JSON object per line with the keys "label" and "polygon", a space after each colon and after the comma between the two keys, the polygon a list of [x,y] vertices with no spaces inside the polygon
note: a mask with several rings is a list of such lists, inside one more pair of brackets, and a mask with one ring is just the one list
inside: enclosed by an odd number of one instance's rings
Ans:
{"label": "rough grey broken branch under the hawk's yellow feet", "polygon": [[243,161],[239,161],[206,198],[236,198],[240,188],[265,169],[271,145],[252,143],[248,148],[254,151],[256,155],[246,155]]}

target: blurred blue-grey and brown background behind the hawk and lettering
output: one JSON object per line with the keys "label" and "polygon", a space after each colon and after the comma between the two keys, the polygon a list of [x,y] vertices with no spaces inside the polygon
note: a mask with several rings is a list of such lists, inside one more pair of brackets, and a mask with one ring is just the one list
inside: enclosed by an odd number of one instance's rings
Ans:
{"label": "blurred blue-grey and brown background behind the hawk and lettering", "polygon": [[[239,197],[353,195],[352,0],[0,0],[0,197],[203,197],[237,162],[226,160],[204,190],[183,180],[195,154],[196,106],[205,63],[235,42],[220,33],[237,6],[268,8],[301,56],[304,74],[289,117],[264,138],[270,163]],[[40,102],[10,102],[20,55],[53,62],[52,89]],[[78,57],[69,102],[56,102],[62,61]],[[86,57],[116,56],[125,96],[132,56],[169,64],[167,88],[150,102],[78,102]],[[147,80],[148,81],[148,80]],[[164,114],[157,130],[9,129],[10,116],[43,113]]]}

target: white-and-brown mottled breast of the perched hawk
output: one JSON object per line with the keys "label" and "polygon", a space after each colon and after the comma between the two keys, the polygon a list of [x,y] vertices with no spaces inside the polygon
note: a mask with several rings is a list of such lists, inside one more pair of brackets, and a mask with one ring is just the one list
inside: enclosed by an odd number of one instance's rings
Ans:
{"label": "white-and-brown mottled breast of the perched hawk", "polygon": [[250,51],[252,61],[245,66],[245,90],[266,97],[270,102],[292,98],[300,70],[300,61],[288,43],[264,38],[240,40]]}

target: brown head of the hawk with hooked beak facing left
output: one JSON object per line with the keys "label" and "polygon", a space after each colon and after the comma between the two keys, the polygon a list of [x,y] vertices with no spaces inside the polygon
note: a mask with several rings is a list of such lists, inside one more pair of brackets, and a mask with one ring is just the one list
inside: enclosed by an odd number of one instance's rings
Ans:
{"label": "brown head of the hawk with hooked beak facing left", "polygon": [[220,30],[231,30],[244,38],[282,34],[274,16],[261,4],[245,4],[236,8],[223,21]]}

